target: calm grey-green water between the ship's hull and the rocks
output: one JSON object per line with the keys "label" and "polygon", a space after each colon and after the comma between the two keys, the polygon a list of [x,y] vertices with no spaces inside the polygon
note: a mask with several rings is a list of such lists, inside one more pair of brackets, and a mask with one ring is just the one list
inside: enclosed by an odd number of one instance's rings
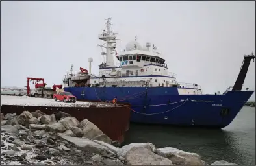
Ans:
{"label": "calm grey-green water between the ship's hull and the rocks", "polygon": [[196,152],[208,164],[225,160],[255,165],[255,108],[242,108],[234,121],[222,130],[131,124],[125,144],[144,142],[158,148]]}

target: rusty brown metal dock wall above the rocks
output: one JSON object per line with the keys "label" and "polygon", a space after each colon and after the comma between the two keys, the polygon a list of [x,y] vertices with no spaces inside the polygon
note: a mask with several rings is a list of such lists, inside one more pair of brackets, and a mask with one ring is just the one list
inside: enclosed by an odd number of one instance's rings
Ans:
{"label": "rusty brown metal dock wall above the rocks", "polygon": [[130,109],[129,107],[58,107],[58,106],[21,106],[2,105],[1,112],[21,114],[23,111],[34,112],[40,110],[47,115],[54,112],[69,113],[72,117],[82,121],[88,119],[102,130],[112,141],[124,141],[125,131],[129,129]]}

